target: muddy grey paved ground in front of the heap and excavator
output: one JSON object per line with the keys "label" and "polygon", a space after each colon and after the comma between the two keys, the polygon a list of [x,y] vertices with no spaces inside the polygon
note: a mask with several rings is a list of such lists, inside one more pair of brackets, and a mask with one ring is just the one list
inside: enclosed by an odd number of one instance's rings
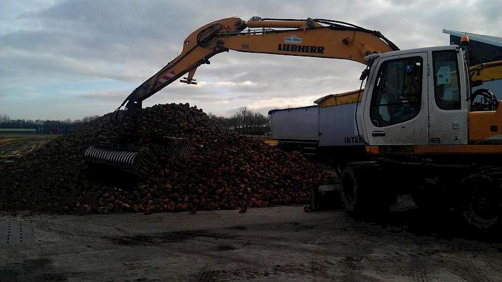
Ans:
{"label": "muddy grey paved ground in front of the heap and excavator", "polygon": [[0,281],[500,281],[501,251],[413,210],[385,223],[303,207],[0,220]]}

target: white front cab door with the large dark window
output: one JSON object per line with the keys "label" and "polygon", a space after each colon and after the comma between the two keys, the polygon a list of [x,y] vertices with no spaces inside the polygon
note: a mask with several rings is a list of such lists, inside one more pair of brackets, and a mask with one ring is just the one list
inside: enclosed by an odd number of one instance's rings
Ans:
{"label": "white front cab door with the large dark window", "polygon": [[427,52],[385,56],[375,64],[363,113],[369,144],[428,144]]}

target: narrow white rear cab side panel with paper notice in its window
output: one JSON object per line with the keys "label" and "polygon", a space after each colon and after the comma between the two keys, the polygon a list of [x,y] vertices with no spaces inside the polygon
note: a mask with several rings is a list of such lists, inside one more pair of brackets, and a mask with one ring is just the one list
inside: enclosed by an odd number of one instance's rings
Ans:
{"label": "narrow white rear cab side panel with paper notice in its window", "polygon": [[468,102],[459,49],[432,51],[429,77],[429,144],[467,144]]}

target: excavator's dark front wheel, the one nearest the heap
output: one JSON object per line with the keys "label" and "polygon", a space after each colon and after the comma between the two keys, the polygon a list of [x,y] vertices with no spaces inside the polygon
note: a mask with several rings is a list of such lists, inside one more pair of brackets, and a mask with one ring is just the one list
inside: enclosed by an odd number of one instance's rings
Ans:
{"label": "excavator's dark front wheel, the one nearest the heap", "polygon": [[377,219],[389,212],[389,195],[379,185],[375,162],[354,162],[341,170],[340,197],[343,209],[354,219]]}

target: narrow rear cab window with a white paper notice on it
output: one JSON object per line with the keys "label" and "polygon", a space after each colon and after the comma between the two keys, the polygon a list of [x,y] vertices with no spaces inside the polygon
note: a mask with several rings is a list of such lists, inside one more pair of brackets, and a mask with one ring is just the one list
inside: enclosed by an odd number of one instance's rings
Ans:
{"label": "narrow rear cab window with a white paper notice on it", "polygon": [[455,50],[434,51],[432,57],[436,105],[442,110],[460,110],[457,52]]}

